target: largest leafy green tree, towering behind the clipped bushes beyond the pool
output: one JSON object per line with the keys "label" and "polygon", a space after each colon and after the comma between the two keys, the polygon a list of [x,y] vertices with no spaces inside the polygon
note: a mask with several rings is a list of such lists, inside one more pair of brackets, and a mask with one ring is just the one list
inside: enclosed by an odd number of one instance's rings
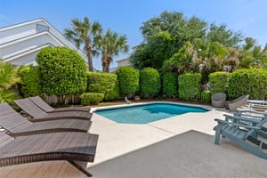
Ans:
{"label": "largest leafy green tree, towering behind the clipped bushes beyond the pool", "polygon": [[[214,66],[217,61],[222,63],[223,58],[226,58],[225,48],[239,47],[239,43],[243,40],[239,32],[231,31],[225,25],[217,26],[214,23],[208,25],[198,17],[187,18],[181,12],[162,12],[158,17],[143,22],[141,31],[144,43],[130,58],[133,66],[138,69],[146,67],[161,69],[164,66],[170,71],[175,70],[177,65],[187,64],[188,61],[177,59],[180,57],[184,59],[184,56],[187,56],[188,50],[184,50],[187,43],[192,44],[198,56],[208,58],[202,59],[203,61],[211,60],[212,66],[209,67],[214,69],[218,66]],[[169,62],[172,63],[170,68],[166,66]],[[179,66],[178,70],[190,70],[186,69],[187,66]]]}

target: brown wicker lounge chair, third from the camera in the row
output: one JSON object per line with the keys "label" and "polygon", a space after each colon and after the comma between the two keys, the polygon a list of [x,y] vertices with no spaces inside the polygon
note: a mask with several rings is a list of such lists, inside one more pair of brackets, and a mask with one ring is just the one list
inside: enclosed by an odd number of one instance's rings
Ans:
{"label": "brown wicker lounge chair, third from the camera in the row", "polygon": [[40,109],[38,106],[36,106],[36,104],[28,98],[15,100],[14,102],[20,107],[20,109],[23,109],[28,113],[28,115],[35,118],[32,120],[33,122],[66,118],[90,120],[92,117],[92,113],[81,111],[62,111],[47,113],[44,112],[43,109]]}

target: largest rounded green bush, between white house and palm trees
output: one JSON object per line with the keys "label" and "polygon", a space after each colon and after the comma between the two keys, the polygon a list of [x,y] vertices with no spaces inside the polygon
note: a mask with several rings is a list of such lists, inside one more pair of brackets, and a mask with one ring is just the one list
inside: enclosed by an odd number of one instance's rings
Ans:
{"label": "largest rounded green bush, between white house and palm trees", "polygon": [[46,47],[37,54],[44,93],[75,94],[86,89],[86,65],[74,50]]}

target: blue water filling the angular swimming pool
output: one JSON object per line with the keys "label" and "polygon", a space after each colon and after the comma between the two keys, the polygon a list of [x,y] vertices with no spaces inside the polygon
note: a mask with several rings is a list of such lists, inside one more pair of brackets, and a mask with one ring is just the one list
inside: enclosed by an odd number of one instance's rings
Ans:
{"label": "blue water filling the angular swimming pool", "polygon": [[200,107],[183,106],[170,103],[149,103],[113,109],[97,109],[94,113],[107,117],[117,123],[147,124],[153,121],[182,115],[187,112],[206,112]]}

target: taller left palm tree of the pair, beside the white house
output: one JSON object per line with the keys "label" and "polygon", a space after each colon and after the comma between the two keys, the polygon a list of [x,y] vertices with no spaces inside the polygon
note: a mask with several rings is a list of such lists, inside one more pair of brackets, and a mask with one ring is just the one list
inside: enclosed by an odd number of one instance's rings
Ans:
{"label": "taller left palm tree of the pair, beside the white house", "polygon": [[93,71],[93,37],[101,34],[101,24],[97,21],[90,23],[87,17],[84,20],[73,19],[71,23],[72,28],[66,28],[64,35],[67,39],[75,43],[78,49],[82,44],[85,45],[84,50],[88,59],[88,69],[89,71]]}

